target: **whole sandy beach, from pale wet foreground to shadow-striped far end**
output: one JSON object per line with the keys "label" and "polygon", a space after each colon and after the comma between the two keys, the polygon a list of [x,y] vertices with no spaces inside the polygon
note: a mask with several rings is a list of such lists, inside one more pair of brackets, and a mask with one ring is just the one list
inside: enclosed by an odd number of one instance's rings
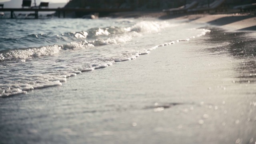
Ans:
{"label": "whole sandy beach, from pale wet foreground to shadow-striped far end", "polygon": [[[150,54],[1,98],[2,143],[256,143],[254,14],[110,17],[174,18],[184,22],[176,29],[188,24],[210,32],[173,44],[158,43],[175,38],[159,32],[146,44],[158,46]],[[134,45],[142,42],[136,37]]]}

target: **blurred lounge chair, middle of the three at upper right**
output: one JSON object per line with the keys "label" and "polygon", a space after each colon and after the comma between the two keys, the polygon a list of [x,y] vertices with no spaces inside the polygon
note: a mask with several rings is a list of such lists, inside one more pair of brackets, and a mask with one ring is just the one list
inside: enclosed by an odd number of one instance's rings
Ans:
{"label": "blurred lounge chair, middle of the three at upper right", "polygon": [[215,12],[219,11],[223,11],[226,10],[227,11],[227,6],[225,5],[226,0],[215,0],[214,2],[212,2],[211,4],[208,5],[204,5],[201,8],[194,8],[194,9],[190,9],[188,10],[188,12],[191,13],[204,13],[204,12],[210,12],[211,10],[214,10]]}

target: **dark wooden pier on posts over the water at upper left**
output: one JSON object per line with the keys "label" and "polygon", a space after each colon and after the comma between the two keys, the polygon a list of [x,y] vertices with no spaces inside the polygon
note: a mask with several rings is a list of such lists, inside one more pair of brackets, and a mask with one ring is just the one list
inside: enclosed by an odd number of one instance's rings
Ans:
{"label": "dark wooden pier on posts over the water at upper left", "polygon": [[106,9],[106,8],[0,8],[1,12],[9,11],[11,12],[11,17],[14,18],[14,12],[34,12],[35,19],[38,19],[38,12],[50,12],[56,11],[58,17],[60,18],[60,14],[63,14],[63,18],[65,18],[66,12],[84,12],[85,14],[90,13],[112,13],[112,12],[127,12],[131,11],[131,9]]}

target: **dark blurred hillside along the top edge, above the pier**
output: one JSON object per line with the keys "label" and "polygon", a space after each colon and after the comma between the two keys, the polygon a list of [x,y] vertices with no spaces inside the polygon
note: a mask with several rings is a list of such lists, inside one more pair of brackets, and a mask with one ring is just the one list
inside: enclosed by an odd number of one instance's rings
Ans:
{"label": "dark blurred hillside along the top edge, above the pier", "polygon": [[[65,7],[69,8],[135,8],[164,9],[176,8],[193,1],[207,4],[214,0],[70,0]],[[230,7],[240,4],[254,3],[255,0],[226,0]]]}

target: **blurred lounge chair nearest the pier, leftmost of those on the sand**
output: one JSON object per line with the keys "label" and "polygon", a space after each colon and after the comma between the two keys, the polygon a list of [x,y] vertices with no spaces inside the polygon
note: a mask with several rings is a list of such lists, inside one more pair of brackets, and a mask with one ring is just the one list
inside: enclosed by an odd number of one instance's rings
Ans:
{"label": "blurred lounge chair nearest the pier, leftmost of those on the sand", "polygon": [[178,13],[186,13],[187,10],[191,8],[196,8],[198,2],[194,1],[190,4],[186,4],[184,6],[180,6],[178,8],[170,8],[170,9],[164,9],[163,12],[166,12],[167,14],[170,14],[171,12],[173,14],[178,14]]}

